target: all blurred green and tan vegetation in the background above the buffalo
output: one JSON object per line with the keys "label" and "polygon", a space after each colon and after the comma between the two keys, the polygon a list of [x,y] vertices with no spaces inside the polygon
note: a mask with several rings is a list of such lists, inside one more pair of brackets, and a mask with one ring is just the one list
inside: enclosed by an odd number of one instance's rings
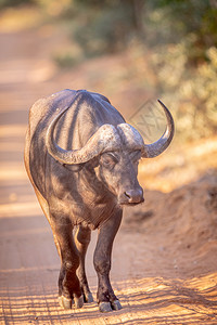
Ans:
{"label": "all blurred green and tan vegetation in the background above the buffalo", "polygon": [[182,141],[216,132],[217,0],[0,0],[1,11],[26,5],[76,44],[53,54],[60,68],[128,55],[118,78],[163,96]]}

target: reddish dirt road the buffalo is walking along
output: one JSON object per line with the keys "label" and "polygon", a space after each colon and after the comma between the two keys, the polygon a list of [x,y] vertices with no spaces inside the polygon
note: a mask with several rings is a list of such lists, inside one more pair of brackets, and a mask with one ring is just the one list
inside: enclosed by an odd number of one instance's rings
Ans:
{"label": "reddish dirt road the buffalo is walking along", "polygon": [[[161,219],[159,211],[154,210],[156,203],[164,207],[165,194],[158,192],[146,193],[144,210],[126,212],[115,242],[112,283],[123,310],[101,314],[95,302],[81,310],[63,311],[59,307],[59,257],[23,165],[27,112],[44,94],[63,88],[88,88],[92,66],[80,67],[80,75],[78,69],[72,76],[60,75],[49,58],[49,39],[48,28],[0,34],[0,323],[217,324],[217,238],[214,232],[205,233],[200,247],[194,247],[195,237],[192,250],[191,243],[183,248],[189,225],[181,227],[182,237],[177,238],[180,232],[174,224],[178,220]],[[173,195],[177,205],[181,200],[187,207],[193,196],[183,191],[188,197],[180,192]],[[167,208],[168,216],[171,210],[181,213],[176,205]],[[95,296],[94,243],[95,233],[87,258]]]}

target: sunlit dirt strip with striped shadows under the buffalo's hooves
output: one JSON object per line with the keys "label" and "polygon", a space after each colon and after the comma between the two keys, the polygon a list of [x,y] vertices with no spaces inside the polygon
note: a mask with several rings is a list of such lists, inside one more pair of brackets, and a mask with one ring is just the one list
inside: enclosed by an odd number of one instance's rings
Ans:
{"label": "sunlit dirt strip with striped shadows under the buffalo's hooves", "polygon": [[[10,291],[10,300],[8,290],[1,288],[0,301],[9,324],[215,324],[217,320],[216,273],[187,281],[144,277],[117,282],[119,289],[116,292],[123,309],[102,314],[95,302],[86,304],[81,310],[62,310],[51,281],[54,277],[52,270],[39,268],[22,272],[33,276],[39,271],[47,281],[43,287],[34,282],[31,288],[27,288],[21,283]],[[22,272],[17,273],[17,278],[22,277]]]}

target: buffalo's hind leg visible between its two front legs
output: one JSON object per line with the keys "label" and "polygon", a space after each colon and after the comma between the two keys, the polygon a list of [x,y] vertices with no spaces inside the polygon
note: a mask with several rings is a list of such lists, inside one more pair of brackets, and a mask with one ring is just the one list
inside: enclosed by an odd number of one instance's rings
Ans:
{"label": "buffalo's hind leg visible between its two front legs", "polygon": [[89,289],[86,270],[85,270],[85,258],[88,249],[88,245],[90,243],[91,231],[89,227],[85,227],[79,225],[75,233],[75,244],[80,255],[80,264],[77,269],[77,276],[80,281],[80,287],[84,295],[85,302],[93,302],[92,294]]}

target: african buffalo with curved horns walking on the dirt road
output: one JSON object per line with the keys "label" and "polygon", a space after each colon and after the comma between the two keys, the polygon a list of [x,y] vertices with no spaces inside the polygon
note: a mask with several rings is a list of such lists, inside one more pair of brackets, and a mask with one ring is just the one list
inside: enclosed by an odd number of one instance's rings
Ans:
{"label": "african buffalo with curved horns walking on the dirt road", "polygon": [[25,166],[61,258],[59,302],[64,309],[93,301],[85,257],[95,229],[99,309],[122,308],[108,276],[112,246],[123,206],[143,202],[137,180],[139,159],[159,155],[174,136],[173,117],[159,104],[167,128],[152,144],[144,144],[140,133],[98,93],[67,89],[37,101],[30,109]]}

